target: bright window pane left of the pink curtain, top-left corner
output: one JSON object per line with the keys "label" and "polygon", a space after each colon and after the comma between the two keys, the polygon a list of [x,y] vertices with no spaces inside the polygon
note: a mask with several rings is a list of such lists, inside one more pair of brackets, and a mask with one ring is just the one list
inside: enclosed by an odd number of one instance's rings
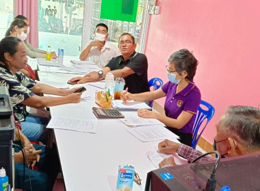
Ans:
{"label": "bright window pane left of the pink curtain, top-left corner", "polygon": [[0,20],[0,39],[2,39],[14,20],[14,0],[0,1]]}

